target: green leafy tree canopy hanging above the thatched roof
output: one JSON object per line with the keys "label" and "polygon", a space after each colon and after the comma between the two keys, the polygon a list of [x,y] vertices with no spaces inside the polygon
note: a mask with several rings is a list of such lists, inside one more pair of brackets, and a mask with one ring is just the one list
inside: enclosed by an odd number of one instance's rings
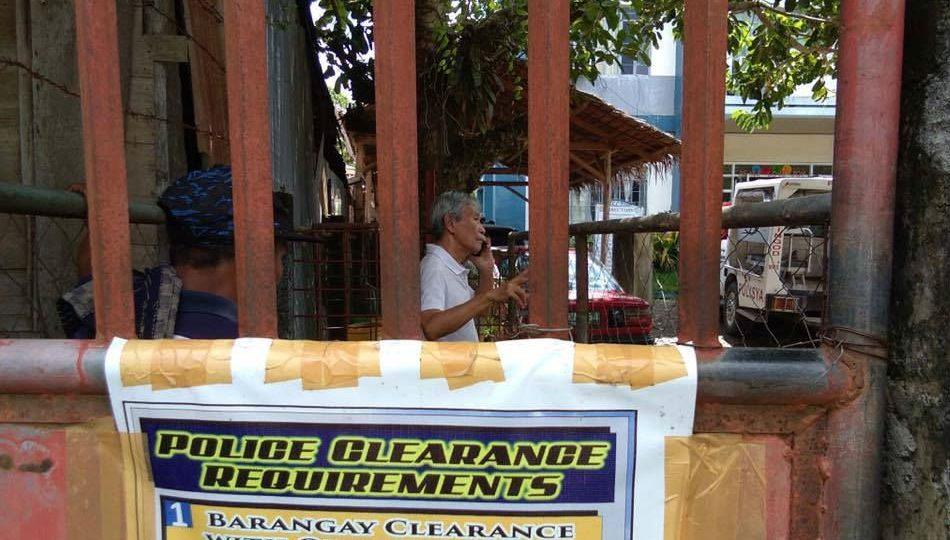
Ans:
{"label": "green leafy tree canopy hanging above the thatched roof", "polygon": [[[372,0],[315,1],[327,75],[355,106],[373,103]],[[817,100],[828,96],[839,4],[730,2],[727,86],[754,101],[737,115],[740,127],[766,127],[800,85],[811,84]],[[603,64],[623,56],[649,64],[666,25],[682,37],[683,0],[571,0],[572,81],[593,82]],[[525,122],[512,104],[524,96],[527,0],[417,0],[416,26],[423,165],[461,180],[523,151]]]}

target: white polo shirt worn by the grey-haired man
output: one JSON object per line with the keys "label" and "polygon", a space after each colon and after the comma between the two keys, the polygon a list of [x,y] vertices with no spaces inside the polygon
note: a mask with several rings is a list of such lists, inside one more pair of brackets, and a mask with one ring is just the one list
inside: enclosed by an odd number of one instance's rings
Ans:
{"label": "white polo shirt worn by the grey-haired man", "polygon": [[[442,246],[426,244],[426,256],[419,263],[419,270],[422,279],[422,311],[445,311],[475,296],[475,291],[468,284],[468,268],[459,264]],[[478,341],[475,319],[439,341]]]}

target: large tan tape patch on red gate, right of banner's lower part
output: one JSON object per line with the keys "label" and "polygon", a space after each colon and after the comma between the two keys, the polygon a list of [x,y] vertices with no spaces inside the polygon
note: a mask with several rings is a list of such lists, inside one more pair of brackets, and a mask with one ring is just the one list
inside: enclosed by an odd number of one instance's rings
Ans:
{"label": "large tan tape patch on red gate, right of banner's lower part", "polygon": [[765,469],[742,435],[667,437],[665,540],[767,538]]}

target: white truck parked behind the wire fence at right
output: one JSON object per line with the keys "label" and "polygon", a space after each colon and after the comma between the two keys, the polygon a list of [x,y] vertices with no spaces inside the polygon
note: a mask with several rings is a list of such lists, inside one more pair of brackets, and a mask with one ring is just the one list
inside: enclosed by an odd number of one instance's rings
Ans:
{"label": "white truck parked behind the wire fence at right", "polygon": [[[732,201],[751,204],[830,191],[830,177],[769,178],[737,183]],[[731,229],[720,256],[724,331],[738,335],[746,321],[781,317],[820,323],[826,236],[824,225]]]}

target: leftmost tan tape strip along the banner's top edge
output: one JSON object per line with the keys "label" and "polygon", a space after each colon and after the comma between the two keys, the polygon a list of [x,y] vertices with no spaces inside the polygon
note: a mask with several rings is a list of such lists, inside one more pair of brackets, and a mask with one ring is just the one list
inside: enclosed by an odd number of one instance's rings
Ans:
{"label": "leftmost tan tape strip along the banner's top edge", "polygon": [[166,390],[230,383],[233,345],[233,340],[129,341],[119,362],[122,384]]}

